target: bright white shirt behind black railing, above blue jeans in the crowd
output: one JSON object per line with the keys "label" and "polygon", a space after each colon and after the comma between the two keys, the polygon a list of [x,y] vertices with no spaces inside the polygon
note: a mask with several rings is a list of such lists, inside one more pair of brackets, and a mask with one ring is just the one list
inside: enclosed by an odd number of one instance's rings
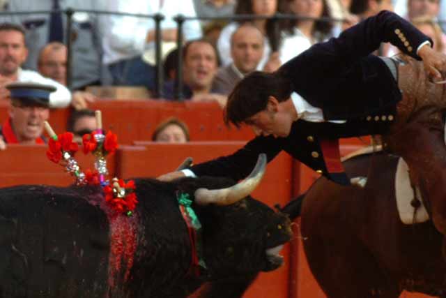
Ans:
{"label": "bright white shirt behind black railing, above blue jeans in the crowd", "polygon": [[[135,13],[153,15],[161,13],[164,20],[161,29],[174,29],[176,15],[196,17],[192,0],[109,0],[107,10],[120,13]],[[155,22],[147,17],[132,17],[109,15],[104,20],[104,64],[112,64],[123,59],[141,55],[144,50],[155,47],[155,43],[146,43],[148,31],[155,30]],[[201,38],[201,27],[198,20],[188,20],[183,23],[185,40]]]}

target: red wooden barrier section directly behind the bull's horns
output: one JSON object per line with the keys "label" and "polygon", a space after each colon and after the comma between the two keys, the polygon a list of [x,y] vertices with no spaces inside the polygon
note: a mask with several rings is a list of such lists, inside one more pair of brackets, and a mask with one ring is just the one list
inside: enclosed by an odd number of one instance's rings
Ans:
{"label": "red wooden barrier section directly behind the bull's horns", "polygon": [[[144,146],[121,147],[118,151],[119,163],[116,172],[120,177],[156,177],[175,170],[187,156],[194,158],[195,163],[201,163],[217,156],[231,154],[245,142],[190,142],[176,145],[139,142],[139,144]],[[252,193],[253,197],[271,207],[277,203],[286,204],[291,198],[292,190],[291,163],[292,159],[288,154],[279,154],[268,164],[260,186]],[[289,245],[286,245],[282,251],[285,265],[275,271],[260,274],[243,297],[289,297],[289,253]]]}

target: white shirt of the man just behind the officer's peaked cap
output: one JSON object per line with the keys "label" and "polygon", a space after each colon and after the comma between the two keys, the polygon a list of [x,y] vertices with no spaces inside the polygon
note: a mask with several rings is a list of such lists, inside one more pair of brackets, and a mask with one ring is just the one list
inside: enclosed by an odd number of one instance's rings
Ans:
{"label": "white shirt of the man just behind the officer's peaked cap", "polygon": [[49,94],[49,107],[68,107],[71,103],[71,93],[63,84],[56,82],[48,77],[43,77],[37,71],[24,70],[19,68],[17,81],[18,82],[32,82],[37,84],[45,84],[56,87],[56,91]]}

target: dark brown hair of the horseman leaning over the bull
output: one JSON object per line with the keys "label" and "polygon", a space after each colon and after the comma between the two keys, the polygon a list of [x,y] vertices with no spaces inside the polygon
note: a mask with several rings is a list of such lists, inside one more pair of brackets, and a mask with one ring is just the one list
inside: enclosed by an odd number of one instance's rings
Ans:
{"label": "dark brown hair of the horseman leaning over the bull", "polygon": [[234,87],[224,111],[226,125],[240,127],[247,118],[266,109],[268,98],[282,102],[291,96],[291,82],[280,73],[254,71]]}

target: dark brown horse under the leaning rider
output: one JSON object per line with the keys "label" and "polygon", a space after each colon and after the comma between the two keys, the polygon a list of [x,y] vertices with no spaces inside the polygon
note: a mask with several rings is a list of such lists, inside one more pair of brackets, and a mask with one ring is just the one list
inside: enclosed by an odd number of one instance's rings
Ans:
{"label": "dark brown horse under the leaning rider", "polygon": [[[443,95],[436,94],[446,98]],[[446,297],[443,107],[436,104],[438,98],[422,99],[426,104],[413,109],[416,112],[385,141],[408,164],[410,180],[420,188],[431,220],[401,223],[394,195],[397,156],[383,152],[344,163],[350,177],[367,177],[364,188],[321,178],[305,195],[303,246],[329,298],[397,298],[403,290]],[[287,208],[284,212],[293,214]]]}

